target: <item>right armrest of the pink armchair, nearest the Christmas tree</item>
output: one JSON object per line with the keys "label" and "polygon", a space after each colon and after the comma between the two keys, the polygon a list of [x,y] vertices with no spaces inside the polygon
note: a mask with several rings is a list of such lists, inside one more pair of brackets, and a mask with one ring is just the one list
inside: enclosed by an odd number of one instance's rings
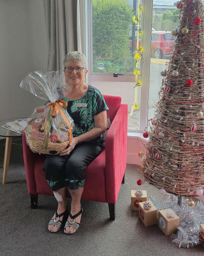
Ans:
{"label": "right armrest of the pink armchair, nearest the Christmas tree", "polygon": [[106,136],[106,195],[115,203],[126,168],[127,104],[121,104]]}

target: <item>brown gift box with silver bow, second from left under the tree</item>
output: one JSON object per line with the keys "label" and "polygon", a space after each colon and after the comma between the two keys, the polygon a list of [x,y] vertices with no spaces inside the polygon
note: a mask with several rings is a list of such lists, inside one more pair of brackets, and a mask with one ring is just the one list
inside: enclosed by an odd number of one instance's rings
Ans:
{"label": "brown gift box with silver bow, second from left under the tree", "polygon": [[145,227],[156,225],[158,223],[158,209],[149,200],[139,203],[139,217]]}

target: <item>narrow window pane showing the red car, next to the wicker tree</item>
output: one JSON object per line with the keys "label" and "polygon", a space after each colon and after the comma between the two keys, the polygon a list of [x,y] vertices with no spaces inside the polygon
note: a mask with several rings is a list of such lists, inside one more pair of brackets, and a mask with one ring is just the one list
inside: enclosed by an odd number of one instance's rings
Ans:
{"label": "narrow window pane showing the red car, next to the wicker tree", "polygon": [[[160,1],[160,5],[165,5],[165,3],[166,1]],[[156,31],[152,32],[151,35],[148,119],[154,118],[155,116],[154,107],[159,101],[159,92],[162,86],[163,77],[161,76],[161,72],[166,70],[166,63],[169,62],[170,56],[174,51],[175,37],[171,35],[171,31],[179,25],[178,15],[180,10],[177,9],[176,12],[174,16],[166,17],[166,20],[164,15],[162,15],[161,19],[157,19],[157,14],[152,15],[152,27]],[[155,44],[156,40],[157,44]]]}

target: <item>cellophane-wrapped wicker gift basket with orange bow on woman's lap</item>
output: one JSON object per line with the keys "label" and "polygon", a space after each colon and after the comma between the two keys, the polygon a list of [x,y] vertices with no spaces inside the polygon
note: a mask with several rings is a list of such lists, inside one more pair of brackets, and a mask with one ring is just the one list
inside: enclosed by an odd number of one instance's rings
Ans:
{"label": "cellophane-wrapped wicker gift basket with orange bow on woman's lap", "polygon": [[30,149],[40,154],[60,154],[71,142],[74,129],[73,119],[66,111],[67,102],[62,100],[63,91],[70,91],[64,74],[61,71],[31,72],[20,87],[46,102],[28,118],[24,132]]}

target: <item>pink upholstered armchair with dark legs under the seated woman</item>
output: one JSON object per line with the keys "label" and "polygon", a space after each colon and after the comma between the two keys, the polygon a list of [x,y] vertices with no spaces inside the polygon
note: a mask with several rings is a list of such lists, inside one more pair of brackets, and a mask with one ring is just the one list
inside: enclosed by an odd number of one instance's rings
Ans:
{"label": "pink upholstered armchair with dark legs under the seated woman", "polygon": [[[108,105],[107,116],[111,126],[106,136],[106,146],[86,169],[82,200],[108,203],[110,219],[115,220],[115,203],[121,183],[124,183],[127,150],[127,105],[121,97],[104,95]],[[31,208],[36,209],[38,195],[53,196],[43,171],[45,155],[33,153],[22,136],[23,158]],[[70,198],[68,189],[67,197]]]}

